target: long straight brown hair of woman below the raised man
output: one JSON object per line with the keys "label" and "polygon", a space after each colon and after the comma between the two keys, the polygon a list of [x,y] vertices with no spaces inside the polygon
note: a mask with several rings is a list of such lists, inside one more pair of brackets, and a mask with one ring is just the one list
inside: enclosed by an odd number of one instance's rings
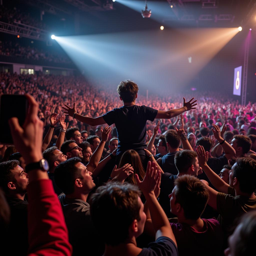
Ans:
{"label": "long straight brown hair of woman below the raised man", "polygon": [[[145,177],[145,170],[143,168],[142,162],[141,162],[141,158],[139,156],[139,154],[133,150],[126,150],[121,159],[120,159],[120,163],[119,163],[119,167],[121,168],[122,166],[124,166],[125,164],[131,164],[133,169],[134,169],[134,174],[138,174],[140,180],[143,180]],[[136,180],[135,180],[135,176],[134,175],[130,175],[128,178],[126,178],[125,180],[126,182],[129,182],[133,185],[136,185]]]}

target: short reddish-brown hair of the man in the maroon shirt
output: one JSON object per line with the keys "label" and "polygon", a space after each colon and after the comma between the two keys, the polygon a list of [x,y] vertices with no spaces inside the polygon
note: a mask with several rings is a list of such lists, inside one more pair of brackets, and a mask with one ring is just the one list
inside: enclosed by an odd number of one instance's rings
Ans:
{"label": "short reddish-brown hair of the man in the maroon shirt", "polygon": [[198,178],[191,175],[179,176],[174,181],[176,186],[175,203],[180,204],[186,219],[196,220],[205,210],[209,192]]}

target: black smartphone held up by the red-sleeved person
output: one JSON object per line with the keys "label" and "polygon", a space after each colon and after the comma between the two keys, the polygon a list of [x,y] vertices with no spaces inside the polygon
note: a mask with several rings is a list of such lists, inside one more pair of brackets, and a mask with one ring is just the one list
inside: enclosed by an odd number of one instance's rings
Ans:
{"label": "black smartphone held up by the red-sleeved person", "polygon": [[11,117],[17,117],[19,125],[25,122],[28,113],[28,101],[25,95],[3,94],[0,98],[0,143],[13,144],[13,138],[8,124]]}

